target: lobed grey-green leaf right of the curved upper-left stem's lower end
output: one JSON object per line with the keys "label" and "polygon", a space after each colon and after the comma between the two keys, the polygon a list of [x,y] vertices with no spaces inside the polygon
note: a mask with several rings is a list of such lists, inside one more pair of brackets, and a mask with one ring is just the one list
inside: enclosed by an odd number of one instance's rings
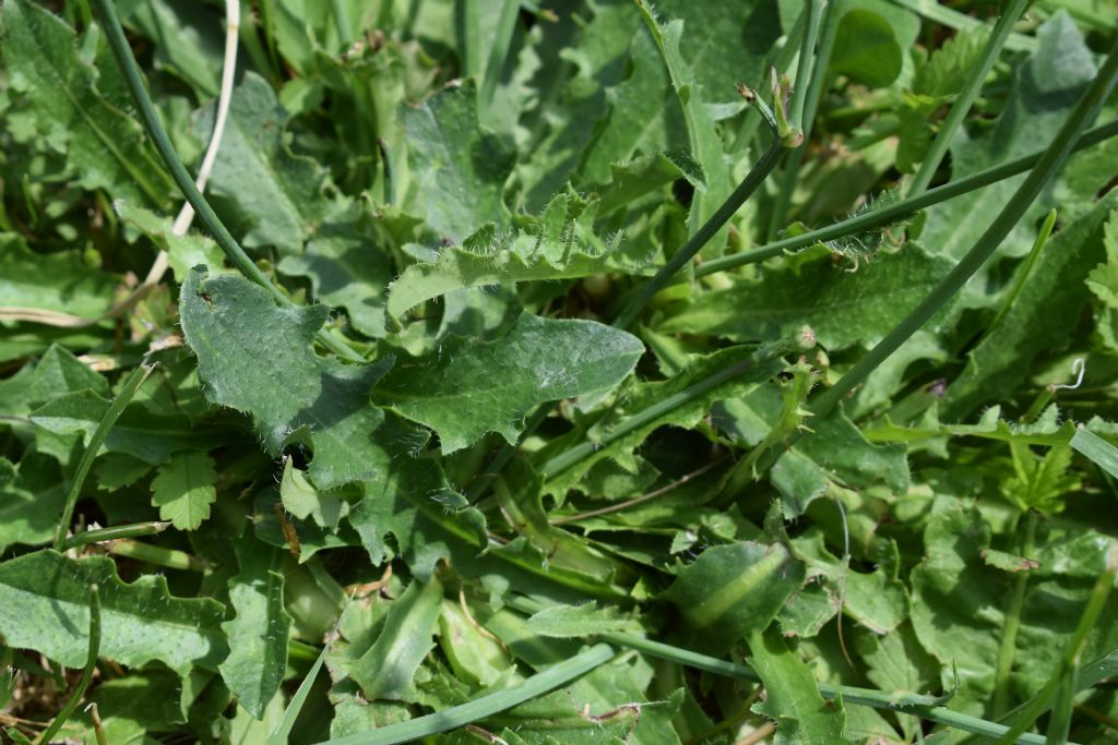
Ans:
{"label": "lobed grey-green leaf right of the curved upper-left stem's lower end", "polygon": [[302,254],[280,261],[280,271],[309,277],[314,298],[345,308],[358,332],[385,336],[385,287],[392,278],[391,259],[359,229],[350,209],[319,228]]}

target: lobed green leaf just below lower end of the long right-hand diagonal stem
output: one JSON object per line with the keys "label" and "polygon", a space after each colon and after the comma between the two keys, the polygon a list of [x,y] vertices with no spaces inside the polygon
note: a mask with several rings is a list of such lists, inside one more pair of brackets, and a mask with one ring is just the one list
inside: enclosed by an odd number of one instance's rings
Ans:
{"label": "lobed green leaf just below lower end of the long right-hand diagonal stem", "polygon": [[897,495],[909,488],[908,449],[874,446],[842,413],[809,422],[811,432],[773,466],[773,486],[784,497],[785,514],[797,517],[832,486],[862,489],[884,483]]}

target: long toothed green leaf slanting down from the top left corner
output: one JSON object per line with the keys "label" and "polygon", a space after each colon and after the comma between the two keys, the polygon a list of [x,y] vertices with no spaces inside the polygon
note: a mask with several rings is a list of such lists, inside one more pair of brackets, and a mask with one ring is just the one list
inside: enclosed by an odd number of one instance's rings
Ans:
{"label": "long toothed green leaf slanting down from the top left corner", "polygon": [[97,73],[78,57],[74,30],[28,0],[4,2],[3,25],[8,80],[29,98],[36,128],[66,154],[78,182],[91,191],[165,206],[170,178],[140,124],[97,92]]}

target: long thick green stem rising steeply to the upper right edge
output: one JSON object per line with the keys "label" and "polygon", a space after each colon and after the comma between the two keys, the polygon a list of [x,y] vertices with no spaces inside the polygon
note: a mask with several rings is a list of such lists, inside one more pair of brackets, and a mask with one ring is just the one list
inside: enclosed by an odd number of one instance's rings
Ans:
{"label": "long thick green stem rising steeply to the upper right edge", "polygon": [[1074,111],[1060,128],[1060,133],[1041,156],[1024,183],[1013,194],[966,256],[955,265],[955,268],[936,286],[931,293],[913,309],[908,317],[897,325],[870,352],[825,391],[812,407],[816,416],[824,416],[834,409],[839,402],[855,386],[860,385],[878,365],[884,362],[897,348],[931,318],[947,300],[955,296],[963,285],[989,259],[1002,243],[1010,230],[1021,220],[1032,206],[1041,189],[1063,166],[1071,155],[1071,146],[1083,126],[1098,115],[1102,102],[1106,101],[1115,80],[1118,79],[1118,42],[1115,42],[1090,88],[1083,94]]}

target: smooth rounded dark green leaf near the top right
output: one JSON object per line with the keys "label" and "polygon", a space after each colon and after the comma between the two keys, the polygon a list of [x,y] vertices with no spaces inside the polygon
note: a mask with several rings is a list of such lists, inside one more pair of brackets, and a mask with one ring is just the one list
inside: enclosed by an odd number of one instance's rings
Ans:
{"label": "smooth rounded dark green leaf near the top right", "polygon": [[854,83],[884,88],[901,73],[903,54],[893,28],[872,10],[846,11],[834,45],[830,70]]}

